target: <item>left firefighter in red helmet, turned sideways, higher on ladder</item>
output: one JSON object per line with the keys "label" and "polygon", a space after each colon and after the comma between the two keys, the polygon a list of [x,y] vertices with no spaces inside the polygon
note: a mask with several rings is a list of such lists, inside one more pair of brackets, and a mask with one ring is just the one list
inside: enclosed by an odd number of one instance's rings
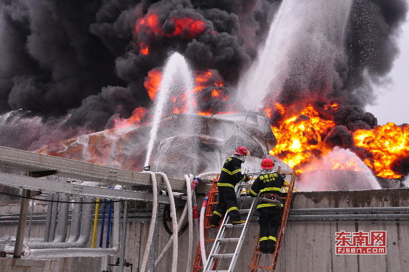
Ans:
{"label": "left firefighter in red helmet, turned sideways, higher on ladder", "polygon": [[219,226],[220,219],[224,216],[226,211],[229,213],[231,224],[236,225],[246,222],[240,218],[234,186],[239,181],[249,180],[246,175],[242,174],[241,169],[241,165],[245,161],[247,155],[250,155],[247,148],[240,146],[236,148],[233,154],[224,162],[217,185],[219,191],[219,203],[216,205],[216,208],[214,208],[213,215],[210,219],[211,227]]}

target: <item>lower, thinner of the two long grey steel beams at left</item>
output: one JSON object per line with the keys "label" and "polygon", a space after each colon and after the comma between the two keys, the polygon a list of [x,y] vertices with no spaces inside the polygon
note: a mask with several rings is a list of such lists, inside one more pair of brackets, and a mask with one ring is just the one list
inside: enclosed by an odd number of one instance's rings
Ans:
{"label": "lower, thinner of the two long grey steel beams at left", "polygon": [[[115,190],[102,187],[74,184],[48,179],[32,178],[13,174],[0,173],[0,183],[22,188],[26,190],[46,191],[51,193],[66,193],[74,196],[92,196],[109,199],[126,199],[136,201],[152,201],[153,195],[127,190]],[[169,198],[158,196],[160,203],[169,204]],[[181,199],[175,199],[178,205],[185,203]]]}

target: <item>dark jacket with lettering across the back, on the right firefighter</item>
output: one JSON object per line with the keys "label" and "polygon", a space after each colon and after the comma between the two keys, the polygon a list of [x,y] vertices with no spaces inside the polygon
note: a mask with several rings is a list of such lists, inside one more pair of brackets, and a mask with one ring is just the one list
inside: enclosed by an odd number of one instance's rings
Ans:
{"label": "dark jacket with lettering across the back, on the right firefighter", "polygon": [[[260,196],[263,196],[264,194],[276,194],[281,196],[283,185],[284,178],[282,175],[278,174],[277,172],[265,173],[254,180],[253,184],[251,185],[250,196],[256,197],[259,193]],[[283,206],[283,204],[281,205]],[[258,209],[272,206],[276,206],[276,204],[261,201],[257,204],[256,208]]]}

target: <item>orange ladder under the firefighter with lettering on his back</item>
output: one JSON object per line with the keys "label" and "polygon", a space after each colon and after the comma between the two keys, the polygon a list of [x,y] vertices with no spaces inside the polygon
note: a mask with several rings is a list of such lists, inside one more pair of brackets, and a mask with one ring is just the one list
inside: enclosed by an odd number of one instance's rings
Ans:
{"label": "orange ladder under the firefighter with lettering on his back", "polygon": [[[280,172],[281,169],[278,169],[278,173]],[[273,258],[271,261],[270,266],[263,266],[261,265],[263,253],[259,250],[259,239],[256,239],[255,247],[254,247],[254,252],[253,256],[251,258],[250,262],[250,272],[257,272],[257,271],[264,271],[264,270],[269,270],[271,272],[275,271],[275,267],[277,265],[277,260],[278,260],[278,254],[280,252],[281,244],[284,240],[284,234],[286,231],[286,226],[287,226],[287,219],[288,219],[288,213],[290,211],[290,205],[291,205],[291,198],[292,198],[292,193],[294,190],[294,182],[295,182],[295,172],[292,173],[283,173],[285,175],[291,175],[291,180],[290,183],[284,184],[283,187],[288,187],[287,191],[287,197],[282,197],[282,199],[285,199],[286,203],[284,205],[284,210],[283,210],[283,218],[281,220],[281,227],[278,231],[278,236],[277,236],[277,242],[275,244],[275,250],[273,253]],[[267,256],[266,256],[267,260]]]}

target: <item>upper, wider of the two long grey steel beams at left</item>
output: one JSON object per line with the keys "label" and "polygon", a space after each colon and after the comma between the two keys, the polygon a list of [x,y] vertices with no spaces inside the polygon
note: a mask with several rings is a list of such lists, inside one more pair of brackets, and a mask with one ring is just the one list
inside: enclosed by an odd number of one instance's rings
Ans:
{"label": "upper, wider of the two long grey steel beams at left", "polygon": [[[6,147],[0,147],[0,168],[28,172],[56,171],[56,176],[130,186],[152,184],[149,174]],[[166,188],[161,176],[156,176],[156,180],[159,187]],[[173,191],[186,193],[184,180],[169,178],[169,182]],[[207,193],[209,186],[200,184],[196,190]]]}

